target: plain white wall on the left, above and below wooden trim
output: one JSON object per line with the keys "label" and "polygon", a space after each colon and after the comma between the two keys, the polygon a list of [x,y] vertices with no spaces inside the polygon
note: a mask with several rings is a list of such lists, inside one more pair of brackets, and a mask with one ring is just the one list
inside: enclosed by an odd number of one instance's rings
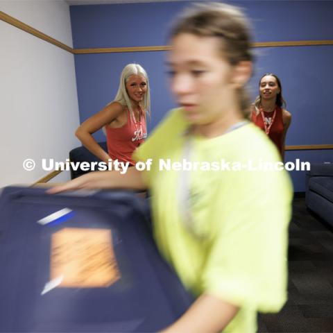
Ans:
{"label": "plain white wall on the left, above and below wooden trim", "polygon": [[[72,46],[65,1],[0,0],[0,10]],[[79,145],[74,55],[2,21],[0,47],[0,187],[31,184],[49,173],[42,158],[65,160]],[[24,171],[26,158],[35,170]]]}

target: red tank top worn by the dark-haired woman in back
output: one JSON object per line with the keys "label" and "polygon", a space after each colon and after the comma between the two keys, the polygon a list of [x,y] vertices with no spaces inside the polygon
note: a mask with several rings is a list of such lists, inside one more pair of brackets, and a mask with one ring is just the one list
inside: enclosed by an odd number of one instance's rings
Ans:
{"label": "red tank top worn by the dark-haired woman in back", "polygon": [[[282,156],[282,136],[283,136],[283,119],[282,119],[282,109],[280,106],[276,106],[276,114],[275,118],[273,119],[274,112],[264,112],[264,119],[266,121],[266,127],[268,127],[271,124],[271,121],[273,121],[273,124],[269,130],[268,137],[274,142],[275,146],[278,147],[278,150],[280,151],[280,154]],[[264,121],[262,119],[262,114],[259,112],[257,115],[255,114],[255,111],[252,112],[251,120],[253,123],[255,123],[259,128],[262,128],[262,130],[265,131]]]}

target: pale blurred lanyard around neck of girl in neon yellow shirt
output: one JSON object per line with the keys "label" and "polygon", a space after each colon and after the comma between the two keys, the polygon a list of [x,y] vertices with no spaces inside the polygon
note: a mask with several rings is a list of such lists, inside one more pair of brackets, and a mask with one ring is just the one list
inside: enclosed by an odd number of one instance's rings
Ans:
{"label": "pale blurred lanyard around neck of girl in neon yellow shirt", "polygon": [[[237,130],[244,125],[248,124],[248,121],[239,121],[235,123],[224,134],[230,133],[233,130]],[[191,155],[193,153],[193,142],[189,131],[185,133],[185,143],[182,153],[182,160],[191,160]],[[207,171],[210,172],[210,171]],[[178,202],[179,209],[182,214],[182,221],[185,225],[185,228],[198,239],[202,239],[203,236],[198,234],[194,228],[194,218],[191,209],[191,190],[190,190],[190,173],[183,169],[180,170],[180,177],[178,182]]]}

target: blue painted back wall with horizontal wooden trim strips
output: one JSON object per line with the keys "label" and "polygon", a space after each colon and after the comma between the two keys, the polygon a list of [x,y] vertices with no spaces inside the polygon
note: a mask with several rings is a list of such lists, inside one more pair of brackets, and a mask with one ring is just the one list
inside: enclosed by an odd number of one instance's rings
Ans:
{"label": "blue painted back wall with horizontal wooden trim strips", "polygon": [[[243,7],[253,24],[255,42],[333,40],[333,1],[229,1]],[[75,49],[166,45],[167,31],[189,2],[71,6]],[[253,99],[266,72],[282,80],[287,110],[293,116],[288,145],[333,144],[333,46],[256,48]],[[176,104],[164,66],[167,52],[97,53],[75,56],[80,120],[114,98],[121,69],[138,62],[151,82],[151,130]],[[101,131],[95,134],[103,141]],[[286,160],[333,162],[333,151],[287,151]],[[305,190],[305,175],[292,172],[295,191]]]}

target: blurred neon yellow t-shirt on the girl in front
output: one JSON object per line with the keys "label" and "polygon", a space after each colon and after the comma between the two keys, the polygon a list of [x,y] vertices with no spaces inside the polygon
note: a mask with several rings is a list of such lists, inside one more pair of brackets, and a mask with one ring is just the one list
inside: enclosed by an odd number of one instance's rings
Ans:
{"label": "blurred neon yellow t-shirt on the girl in front", "polygon": [[[291,182],[286,171],[262,171],[280,155],[252,123],[211,139],[192,137],[190,164],[187,128],[181,110],[172,110],[135,151],[135,160],[153,160],[144,177],[155,241],[189,291],[240,307],[223,332],[255,332],[257,311],[279,311],[287,299]],[[186,203],[186,171],[178,170],[189,165]]]}

